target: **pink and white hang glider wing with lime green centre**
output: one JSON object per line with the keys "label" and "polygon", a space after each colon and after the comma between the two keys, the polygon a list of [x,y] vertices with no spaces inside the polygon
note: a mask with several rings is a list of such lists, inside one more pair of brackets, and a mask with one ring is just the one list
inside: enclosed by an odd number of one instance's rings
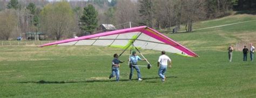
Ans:
{"label": "pink and white hang glider wing with lime green centre", "polygon": [[39,47],[51,45],[96,45],[119,47],[124,49],[134,45],[138,48],[147,50],[166,51],[186,57],[199,57],[196,53],[188,50],[188,48],[147,26],[138,26],[129,29],[65,39],[44,44]]}

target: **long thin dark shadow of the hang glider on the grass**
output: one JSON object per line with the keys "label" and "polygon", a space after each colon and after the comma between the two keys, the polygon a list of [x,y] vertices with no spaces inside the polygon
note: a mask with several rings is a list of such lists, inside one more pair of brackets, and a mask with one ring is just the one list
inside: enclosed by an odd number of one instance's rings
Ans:
{"label": "long thin dark shadow of the hang glider on the grass", "polygon": [[[178,78],[177,76],[167,76],[166,78]],[[151,79],[159,79],[159,77],[154,77],[154,78],[143,78],[143,80],[151,80]],[[137,79],[132,79],[137,80]],[[124,80],[119,80],[119,81],[130,81],[128,79]],[[86,81],[26,81],[26,82],[18,82],[18,83],[38,83],[38,84],[50,84],[50,83],[90,83],[90,82],[116,82],[116,80],[86,80]],[[146,82],[151,82],[155,83],[154,81],[146,81]]]}

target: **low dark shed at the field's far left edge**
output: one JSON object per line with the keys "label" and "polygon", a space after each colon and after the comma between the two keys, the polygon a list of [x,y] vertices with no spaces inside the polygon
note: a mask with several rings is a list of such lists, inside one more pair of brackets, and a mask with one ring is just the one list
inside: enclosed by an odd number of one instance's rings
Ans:
{"label": "low dark shed at the field's far left edge", "polygon": [[45,34],[42,32],[26,32],[25,38],[27,40],[45,40]]}

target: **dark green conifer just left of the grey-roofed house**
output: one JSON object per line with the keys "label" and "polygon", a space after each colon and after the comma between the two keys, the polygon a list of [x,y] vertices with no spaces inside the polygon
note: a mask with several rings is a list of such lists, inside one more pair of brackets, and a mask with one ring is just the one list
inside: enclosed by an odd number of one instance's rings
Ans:
{"label": "dark green conifer just left of the grey-roofed house", "polygon": [[94,8],[93,5],[89,4],[84,7],[83,15],[80,18],[80,22],[82,23],[80,29],[85,32],[92,33],[95,31],[98,25],[98,11]]}

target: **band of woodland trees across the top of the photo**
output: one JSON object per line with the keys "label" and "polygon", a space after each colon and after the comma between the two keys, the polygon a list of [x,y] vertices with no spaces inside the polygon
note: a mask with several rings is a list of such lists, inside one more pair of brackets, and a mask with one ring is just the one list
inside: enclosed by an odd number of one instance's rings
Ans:
{"label": "band of woodland trees across the top of the photo", "polygon": [[0,2],[0,39],[15,39],[26,32],[42,32],[49,40],[84,36],[100,24],[118,29],[147,25],[154,29],[187,32],[199,20],[224,17],[232,10],[253,10],[252,0],[89,0],[48,2],[3,0]]}

